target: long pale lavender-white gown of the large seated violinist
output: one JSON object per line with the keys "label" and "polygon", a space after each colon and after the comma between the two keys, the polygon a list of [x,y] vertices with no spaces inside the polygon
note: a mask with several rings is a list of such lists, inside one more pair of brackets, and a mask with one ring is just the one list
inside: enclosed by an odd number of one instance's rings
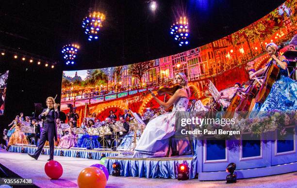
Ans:
{"label": "long pale lavender-white gown of the large seated violinist", "polygon": [[[148,122],[143,134],[137,142],[134,158],[166,157],[169,149],[169,138],[175,133],[175,114],[177,111],[186,111],[189,99],[180,97],[175,103],[172,112],[166,113]],[[174,141],[179,155],[189,151],[187,140]],[[171,156],[171,150],[169,153]]]}

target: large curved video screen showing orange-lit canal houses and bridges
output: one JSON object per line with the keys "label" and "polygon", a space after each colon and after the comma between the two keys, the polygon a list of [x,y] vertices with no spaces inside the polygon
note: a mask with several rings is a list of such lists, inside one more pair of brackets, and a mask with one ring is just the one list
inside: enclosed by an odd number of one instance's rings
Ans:
{"label": "large curved video screen showing orange-lit canal houses and bridges", "polygon": [[78,124],[94,112],[101,121],[110,110],[117,117],[125,109],[142,115],[147,108],[159,107],[144,94],[147,89],[171,84],[179,72],[188,77],[192,98],[207,105],[205,85],[209,80],[218,91],[228,93],[235,82],[247,81],[247,70],[257,70],[267,62],[267,43],[288,44],[296,34],[296,6],[286,1],[246,28],[171,56],[117,67],[64,71],[61,110],[67,113],[76,108]]}

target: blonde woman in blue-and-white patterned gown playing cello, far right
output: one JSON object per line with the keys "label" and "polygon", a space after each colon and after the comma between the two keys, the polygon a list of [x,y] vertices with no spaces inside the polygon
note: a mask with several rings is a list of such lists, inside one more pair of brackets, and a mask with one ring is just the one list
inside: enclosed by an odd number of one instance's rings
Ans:
{"label": "blonde woman in blue-and-white patterned gown playing cello, far right", "polygon": [[[274,43],[267,44],[266,51],[273,63],[280,68],[280,73],[264,103],[255,104],[249,114],[250,118],[266,116],[267,112],[272,110],[297,110],[297,83],[288,77],[288,61],[284,56],[280,56],[278,46]],[[263,74],[266,69],[267,66],[250,75],[250,78]]]}

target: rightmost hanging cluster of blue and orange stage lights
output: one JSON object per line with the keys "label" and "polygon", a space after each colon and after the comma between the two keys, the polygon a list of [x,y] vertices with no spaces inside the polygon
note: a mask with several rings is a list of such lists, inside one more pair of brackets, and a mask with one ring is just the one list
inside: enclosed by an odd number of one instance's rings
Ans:
{"label": "rightmost hanging cluster of blue and orange stage lights", "polygon": [[174,37],[175,41],[179,42],[180,47],[189,44],[189,26],[186,17],[181,18],[179,22],[171,26],[170,34]]}

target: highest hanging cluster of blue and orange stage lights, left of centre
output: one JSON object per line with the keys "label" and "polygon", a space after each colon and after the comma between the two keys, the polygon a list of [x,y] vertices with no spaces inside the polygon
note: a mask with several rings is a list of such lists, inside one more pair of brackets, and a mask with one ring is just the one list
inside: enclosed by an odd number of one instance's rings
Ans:
{"label": "highest hanging cluster of blue and orange stage lights, left of centre", "polygon": [[93,12],[82,20],[82,28],[84,28],[84,33],[88,35],[89,41],[99,38],[99,31],[104,20],[105,15],[100,12]]}

